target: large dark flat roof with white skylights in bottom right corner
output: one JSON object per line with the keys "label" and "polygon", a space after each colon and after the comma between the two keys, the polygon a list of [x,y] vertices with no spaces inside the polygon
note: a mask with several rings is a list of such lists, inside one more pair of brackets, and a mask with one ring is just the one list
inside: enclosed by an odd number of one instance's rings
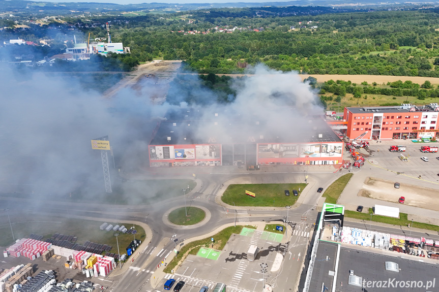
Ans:
{"label": "large dark flat roof with white skylights in bottom right corner", "polygon": [[[381,250],[379,251],[381,252]],[[405,259],[400,256],[407,257],[408,255],[399,253],[398,256],[390,256],[342,247],[336,290],[342,292],[362,291],[361,287],[347,284],[349,270],[353,270],[354,275],[363,278],[364,291],[367,292],[437,291],[437,287],[439,287],[438,265],[419,262],[416,259]],[[419,259],[423,258],[419,257]],[[386,271],[386,262],[398,264],[399,273]],[[436,277],[437,279],[435,279]]]}

